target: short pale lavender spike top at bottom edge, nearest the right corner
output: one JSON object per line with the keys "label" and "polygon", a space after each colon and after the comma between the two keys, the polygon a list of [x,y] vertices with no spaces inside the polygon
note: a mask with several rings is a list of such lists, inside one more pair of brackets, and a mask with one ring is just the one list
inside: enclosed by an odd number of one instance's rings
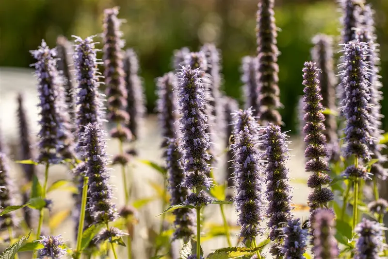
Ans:
{"label": "short pale lavender spike top at bottom edge, nearest the right corner", "polygon": [[381,224],[362,219],[355,229],[356,241],[355,259],[378,259],[383,251],[383,230]]}

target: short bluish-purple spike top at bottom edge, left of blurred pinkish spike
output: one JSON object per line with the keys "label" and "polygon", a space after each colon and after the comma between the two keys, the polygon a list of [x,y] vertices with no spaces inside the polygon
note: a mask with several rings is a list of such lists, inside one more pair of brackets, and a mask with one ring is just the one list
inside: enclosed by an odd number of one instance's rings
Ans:
{"label": "short bluish-purple spike top at bottom edge, left of blurred pinkish spike", "polygon": [[285,259],[305,259],[307,248],[307,229],[301,228],[300,219],[291,219],[283,229],[285,236],[282,253]]}

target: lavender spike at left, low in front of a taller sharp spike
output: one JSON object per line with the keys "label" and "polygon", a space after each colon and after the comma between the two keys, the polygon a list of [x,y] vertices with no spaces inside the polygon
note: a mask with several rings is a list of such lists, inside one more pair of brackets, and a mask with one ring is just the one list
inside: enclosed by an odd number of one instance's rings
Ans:
{"label": "lavender spike at left, low in front of a taller sharp spike", "polygon": [[86,173],[89,177],[88,207],[93,224],[114,221],[118,214],[112,202],[113,192],[109,184],[110,170],[107,167],[108,155],[106,154],[105,132],[97,122],[89,123],[82,134],[85,146],[84,157]]}

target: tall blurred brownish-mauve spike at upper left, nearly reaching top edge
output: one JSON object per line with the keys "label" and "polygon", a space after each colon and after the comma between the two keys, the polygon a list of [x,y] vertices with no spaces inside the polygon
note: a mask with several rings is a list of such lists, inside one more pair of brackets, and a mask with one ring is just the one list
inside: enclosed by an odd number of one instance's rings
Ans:
{"label": "tall blurred brownish-mauve spike at upper left, nearly reaching top edge", "polygon": [[[125,87],[125,73],[123,70],[124,42],[119,31],[121,20],[117,18],[118,8],[104,11],[104,47],[103,57],[106,95],[108,98],[108,118],[117,124],[128,123],[129,115],[125,111],[127,106],[127,89]],[[112,134],[111,134],[112,136]],[[112,136],[113,137],[113,136]]]}

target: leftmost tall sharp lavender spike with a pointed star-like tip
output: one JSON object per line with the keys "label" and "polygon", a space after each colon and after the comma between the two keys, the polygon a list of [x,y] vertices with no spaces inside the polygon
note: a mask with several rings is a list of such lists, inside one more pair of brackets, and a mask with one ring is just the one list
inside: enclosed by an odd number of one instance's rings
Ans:
{"label": "leftmost tall sharp lavender spike with a pointed star-like tip", "polygon": [[38,133],[39,163],[59,163],[64,152],[66,128],[61,118],[62,89],[61,80],[56,68],[56,51],[49,49],[42,40],[38,50],[31,51],[37,60],[32,64],[38,79],[40,107],[40,131]]}

